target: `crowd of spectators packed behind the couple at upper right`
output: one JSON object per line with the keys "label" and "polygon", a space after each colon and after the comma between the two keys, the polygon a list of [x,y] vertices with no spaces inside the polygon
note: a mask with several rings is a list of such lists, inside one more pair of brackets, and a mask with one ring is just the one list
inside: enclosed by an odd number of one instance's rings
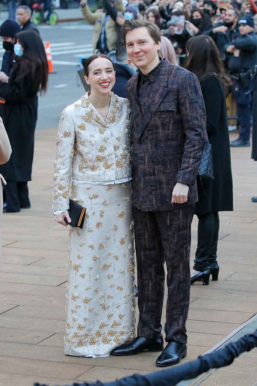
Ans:
{"label": "crowd of spectators packed behind the couple at upper right", "polygon": [[[161,30],[161,53],[185,67],[186,43],[194,36],[215,42],[226,73],[232,80],[227,94],[236,103],[239,138],[230,146],[250,146],[252,91],[257,67],[257,2],[254,0],[103,0],[91,12],[81,0],[84,18],[94,24],[93,49],[115,59],[125,20],[147,19]],[[171,44],[170,44],[171,43]]]}

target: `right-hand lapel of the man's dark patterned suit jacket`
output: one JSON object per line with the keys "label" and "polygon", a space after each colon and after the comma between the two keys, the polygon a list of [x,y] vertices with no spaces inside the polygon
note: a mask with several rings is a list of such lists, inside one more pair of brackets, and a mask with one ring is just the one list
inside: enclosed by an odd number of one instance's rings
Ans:
{"label": "right-hand lapel of the man's dark patterned suit jacket", "polygon": [[155,113],[156,108],[160,105],[161,101],[163,100],[166,93],[168,92],[167,82],[168,82],[169,70],[170,70],[170,62],[165,60],[160,68],[160,71],[156,76],[155,83],[153,84],[153,88],[151,90],[151,95],[148,98],[146,109],[144,111],[144,117],[141,121],[139,137],[141,137],[141,135],[143,134],[149,121],[153,117],[153,114]]}

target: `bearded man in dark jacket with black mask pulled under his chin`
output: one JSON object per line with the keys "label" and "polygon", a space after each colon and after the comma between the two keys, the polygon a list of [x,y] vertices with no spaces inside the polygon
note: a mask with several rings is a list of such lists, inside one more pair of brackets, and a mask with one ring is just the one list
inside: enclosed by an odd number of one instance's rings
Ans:
{"label": "bearded man in dark jacket with black mask pulled under his chin", "polygon": [[228,69],[228,54],[225,46],[232,42],[232,40],[240,37],[238,20],[239,14],[237,10],[228,8],[223,17],[223,22],[215,24],[210,30],[204,32],[205,35],[212,37],[216,43],[225,69]]}

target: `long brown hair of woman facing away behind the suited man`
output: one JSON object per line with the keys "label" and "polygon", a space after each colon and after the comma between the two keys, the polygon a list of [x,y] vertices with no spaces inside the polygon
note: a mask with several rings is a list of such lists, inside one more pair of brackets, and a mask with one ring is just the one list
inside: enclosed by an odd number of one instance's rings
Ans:
{"label": "long brown hair of woman facing away behind the suited man", "polygon": [[217,75],[224,87],[231,85],[217,46],[210,36],[191,37],[186,42],[186,51],[188,51],[188,59],[185,68],[194,73],[200,83],[207,75]]}

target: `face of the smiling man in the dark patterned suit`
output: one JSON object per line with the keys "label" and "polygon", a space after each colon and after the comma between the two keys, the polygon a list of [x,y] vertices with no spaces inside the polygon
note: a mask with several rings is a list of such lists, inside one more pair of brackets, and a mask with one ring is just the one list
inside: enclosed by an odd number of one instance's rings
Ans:
{"label": "face of the smiling man in the dark patterned suit", "polygon": [[139,27],[126,34],[129,59],[139,68],[145,68],[158,56],[161,42],[155,43],[146,27]]}

